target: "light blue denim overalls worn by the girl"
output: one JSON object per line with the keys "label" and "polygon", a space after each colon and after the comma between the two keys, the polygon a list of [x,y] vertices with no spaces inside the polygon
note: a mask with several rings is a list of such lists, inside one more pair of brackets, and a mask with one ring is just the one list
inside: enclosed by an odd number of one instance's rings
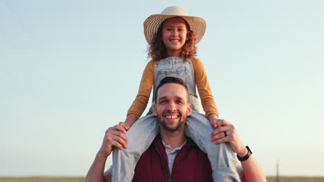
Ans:
{"label": "light blue denim overalls worn by the girl", "polygon": [[[186,135],[199,148],[208,154],[213,168],[213,181],[240,181],[236,170],[236,156],[229,143],[215,145],[210,142],[210,134],[214,128],[204,114],[199,113],[199,101],[196,94],[195,72],[190,60],[183,61],[181,57],[168,57],[156,61],[154,67],[153,93],[160,81],[165,77],[178,77],[188,85],[192,114],[186,121]],[[155,95],[153,95],[154,101]],[[154,103],[152,103],[153,106]],[[127,131],[128,148],[114,148],[112,181],[132,181],[136,163],[141,154],[150,147],[159,132],[157,118],[152,114],[152,106],[145,117],[141,117]]]}

